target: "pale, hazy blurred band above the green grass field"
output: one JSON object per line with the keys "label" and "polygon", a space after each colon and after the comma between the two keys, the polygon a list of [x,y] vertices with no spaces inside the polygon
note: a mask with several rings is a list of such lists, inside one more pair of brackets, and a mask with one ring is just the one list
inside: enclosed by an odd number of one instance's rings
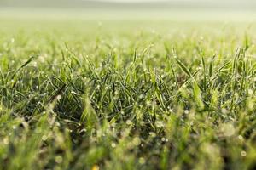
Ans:
{"label": "pale, hazy blurred band above the green grass field", "polygon": [[0,0],[1,16],[256,20],[254,0]]}

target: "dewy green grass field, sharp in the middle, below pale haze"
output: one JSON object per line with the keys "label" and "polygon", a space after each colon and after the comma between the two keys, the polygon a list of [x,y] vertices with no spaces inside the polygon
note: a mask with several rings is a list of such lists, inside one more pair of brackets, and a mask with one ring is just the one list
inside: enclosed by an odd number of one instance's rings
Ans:
{"label": "dewy green grass field, sharp in the middle, below pale haze", "polygon": [[0,169],[256,168],[255,20],[37,16],[0,15]]}

